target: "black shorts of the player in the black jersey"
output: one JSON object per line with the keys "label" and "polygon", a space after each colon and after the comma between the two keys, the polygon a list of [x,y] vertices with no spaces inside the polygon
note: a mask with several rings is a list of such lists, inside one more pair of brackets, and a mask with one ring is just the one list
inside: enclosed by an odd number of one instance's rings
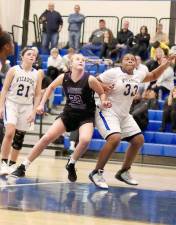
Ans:
{"label": "black shorts of the player in the black jersey", "polygon": [[63,112],[57,118],[59,117],[62,119],[67,132],[77,130],[85,123],[94,124],[95,122],[95,112],[87,114]]}

